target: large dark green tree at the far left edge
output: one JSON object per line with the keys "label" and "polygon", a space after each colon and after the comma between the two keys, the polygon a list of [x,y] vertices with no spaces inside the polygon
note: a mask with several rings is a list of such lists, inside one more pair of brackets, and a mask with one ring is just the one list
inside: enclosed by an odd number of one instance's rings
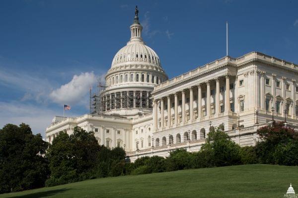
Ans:
{"label": "large dark green tree at the far left edge", "polygon": [[0,129],[0,193],[43,187],[49,176],[48,146],[27,124]]}

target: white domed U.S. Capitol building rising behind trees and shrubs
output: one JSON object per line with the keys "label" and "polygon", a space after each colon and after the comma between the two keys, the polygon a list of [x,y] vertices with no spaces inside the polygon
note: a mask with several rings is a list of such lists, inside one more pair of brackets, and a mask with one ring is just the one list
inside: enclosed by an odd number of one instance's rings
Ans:
{"label": "white domed U.S. Capitol building rising behind trees and shrubs", "polygon": [[210,127],[224,126],[233,141],[254,145],[257,128],[276,121],[298,126],[298,65],[259,52],[225,56],[168,80],[157,54],[142,38],[138,11],[131,38],[112,60],[101,92],[100,115],[56,116],[46,128],[52,142],[75,126],[98,143],[123,147],[134,161],[198,151]]}

